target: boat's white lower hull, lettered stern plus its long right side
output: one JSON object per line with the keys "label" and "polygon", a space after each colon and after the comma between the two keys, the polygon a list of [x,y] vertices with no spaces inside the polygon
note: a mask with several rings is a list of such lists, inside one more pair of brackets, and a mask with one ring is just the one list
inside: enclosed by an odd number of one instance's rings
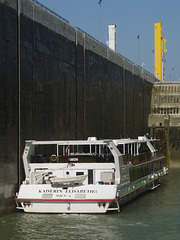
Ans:
{"label": "boat's white lower hull, lettered stern plus its long right side", "polygon": [[[28,213],[106,213],[120,211],[123,205],[138,195],[158,187],[161,177],[142,180],[140,187],[134,184],[118,190],[117,185],[83,185],[77,187],[52,187],[51,185],[21,185],[15,199],[18,209]],[[142,184],[144,183],[144,184]],[[120,194],[118,194],[118,192]],[[126,192],[126,193],[125,193]],[[35,196],[32,198],[32,195]],[[113,207],[115,206],[115,207]]]}

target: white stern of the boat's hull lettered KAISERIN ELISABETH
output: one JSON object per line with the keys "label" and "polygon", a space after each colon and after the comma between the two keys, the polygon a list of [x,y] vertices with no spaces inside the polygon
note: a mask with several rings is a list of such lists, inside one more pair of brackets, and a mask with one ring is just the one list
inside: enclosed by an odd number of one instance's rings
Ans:
{"label": "white stern of the boat's hull lettered KAISERIN ELISABETH", "polygon": [[[118,202],[116,185],[54,188],[51,185],[21,185],[18,208],[29,213],[105,213]],[[34,196],[32,198],[32,196]]]}

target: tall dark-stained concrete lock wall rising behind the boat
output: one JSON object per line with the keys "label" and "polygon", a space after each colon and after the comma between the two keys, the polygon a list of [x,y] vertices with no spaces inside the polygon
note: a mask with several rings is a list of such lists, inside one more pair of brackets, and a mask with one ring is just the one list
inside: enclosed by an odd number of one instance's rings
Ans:
{"label": "tall dark-stained concrete lock wall rising behind the boat", "polygon": [[0,0],[0,18],[2,214],[26,139],[145,134],[155,79],[31,0]]}

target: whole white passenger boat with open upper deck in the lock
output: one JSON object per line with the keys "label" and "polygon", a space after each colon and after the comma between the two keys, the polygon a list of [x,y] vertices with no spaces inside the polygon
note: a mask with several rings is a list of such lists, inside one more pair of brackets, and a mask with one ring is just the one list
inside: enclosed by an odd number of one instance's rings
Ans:
{"label": "whole white passenger boat with open upper deck in the lock", "polygon": [[26,141],[25,180],[15,197],[29,213],[106,213],[160,185],[168,174],[158,141]]}

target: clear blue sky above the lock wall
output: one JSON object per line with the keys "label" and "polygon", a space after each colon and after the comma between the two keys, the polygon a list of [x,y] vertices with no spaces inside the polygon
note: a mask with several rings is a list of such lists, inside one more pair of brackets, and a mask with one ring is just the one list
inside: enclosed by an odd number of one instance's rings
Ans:
{"label": "clear blue sky above the lock wall", "polygon": [[135,64],[139,59],[139,65],[152,74],[154,23],[162,22],[167,40],[165,81],[180,81],[180,0],[102,0],[101,11],[100,0],[38,1],[104,44],[108,25],[115,24],[117,52]]}

